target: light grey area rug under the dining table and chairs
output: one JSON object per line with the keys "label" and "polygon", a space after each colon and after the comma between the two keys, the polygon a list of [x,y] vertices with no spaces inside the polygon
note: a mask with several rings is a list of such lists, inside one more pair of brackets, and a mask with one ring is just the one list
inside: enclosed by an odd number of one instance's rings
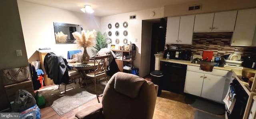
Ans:
{"label": "light grey area rug under the dining table and chairs", "polygon": [[94,84],[81,88],[80,84],[71,83],[66,86],[66,93],[64,93],[65,85],[60,85],[60,89],[58,85],[53,85],[38,91],[46,98],[46,103],[61,116],[97,98],[96,94],[102,94],[105,86],[106,81],[96,84],[95,92]]}

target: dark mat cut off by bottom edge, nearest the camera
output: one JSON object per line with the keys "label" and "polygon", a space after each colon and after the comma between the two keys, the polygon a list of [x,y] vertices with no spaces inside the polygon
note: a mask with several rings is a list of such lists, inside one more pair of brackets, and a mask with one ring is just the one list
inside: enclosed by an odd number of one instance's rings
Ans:
{"label": "dark mat cut off by bottom edge, nearest the camera", "polygon": [[196,110],[194,119],[225,119],[225,117],[224,116],[218,117],[216,115],[212,115],[209,113],[205,113],[205,112]]}

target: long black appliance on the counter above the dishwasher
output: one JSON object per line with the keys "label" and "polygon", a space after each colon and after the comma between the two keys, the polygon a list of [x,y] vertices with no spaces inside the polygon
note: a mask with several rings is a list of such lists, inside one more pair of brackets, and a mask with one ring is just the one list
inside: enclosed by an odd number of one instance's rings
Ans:
{"label": "long black appliance on the counter above the dishwasher", "polygon": [[165,50],[164,58],[166,59],[167,54],[170,54],[170,59],[176,60],[191,60],[192,51],[191,50]]}

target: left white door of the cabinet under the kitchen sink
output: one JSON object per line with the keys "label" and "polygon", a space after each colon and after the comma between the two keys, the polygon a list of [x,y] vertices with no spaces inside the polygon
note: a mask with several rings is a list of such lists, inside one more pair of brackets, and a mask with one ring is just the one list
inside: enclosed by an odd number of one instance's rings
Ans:
{"label": "left white door of the cabinet under the kitchen sink", "polygon": [[204,73],[187,70],[184,92],[195,96],[201,96]]}

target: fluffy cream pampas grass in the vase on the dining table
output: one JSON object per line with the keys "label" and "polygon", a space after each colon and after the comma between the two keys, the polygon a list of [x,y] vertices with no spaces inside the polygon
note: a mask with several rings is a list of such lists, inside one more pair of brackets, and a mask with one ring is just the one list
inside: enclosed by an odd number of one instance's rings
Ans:
{"label": "fluffy cream pampas grass in the vase on the dining table", "polygon": [[95,45],[96,39],[96,31],[82,31],[81,34],[79,32],[74,32],[72,35],[76,39],[74,43],[78,44],[79,47],[93,47]]}

